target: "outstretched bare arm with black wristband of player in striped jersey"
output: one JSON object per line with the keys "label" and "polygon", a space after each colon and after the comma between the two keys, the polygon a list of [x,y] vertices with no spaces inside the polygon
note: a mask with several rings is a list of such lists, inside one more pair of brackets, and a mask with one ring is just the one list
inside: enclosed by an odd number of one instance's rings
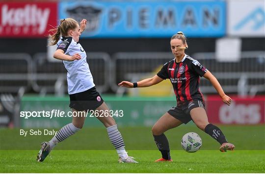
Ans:
{"label": "outstretched bare arm with black wristband of player in striped jersey", "polygon": [[152,78],[148,78],[148,79],[144,79],[142,81],[139,82],[128,82],[128,81],[122,81],[121,83],[119,83],[120,87],[151,87],[153,85],[156,85],[160,82],[162,82],[164,79],[160,78],[158,75],[155,75]]}

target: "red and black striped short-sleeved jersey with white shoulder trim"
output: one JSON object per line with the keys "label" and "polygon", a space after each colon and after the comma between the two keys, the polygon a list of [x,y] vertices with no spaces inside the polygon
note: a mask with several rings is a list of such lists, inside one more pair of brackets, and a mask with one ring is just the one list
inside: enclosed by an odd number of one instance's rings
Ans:
{"label": "red and black striped short-sleeved jersey with white shoulder trim", "polygon": [[164,64],[157,75],[162,79],[170,79],[179,105],[194,99],[204,101],[199,83],[200,76],[206,72],[207,69],[203,65],[185,54],[180,63],[173,59]]}

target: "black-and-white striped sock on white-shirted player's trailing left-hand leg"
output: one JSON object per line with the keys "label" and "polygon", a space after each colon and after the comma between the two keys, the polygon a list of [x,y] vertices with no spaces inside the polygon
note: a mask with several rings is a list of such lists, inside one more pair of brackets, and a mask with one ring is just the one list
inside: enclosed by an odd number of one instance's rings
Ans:
{"label": "black-and-white striped sock on white-shirted player's trailing left-hand leg", "polygon": [[66,138],[75,134],[79,130],[80,129],[75,127],[73,123],[69,123],[68,125],[62,127],[59,131],[57,131],[56,135],[49,141],[51,150],[58,142],[65,140]]}

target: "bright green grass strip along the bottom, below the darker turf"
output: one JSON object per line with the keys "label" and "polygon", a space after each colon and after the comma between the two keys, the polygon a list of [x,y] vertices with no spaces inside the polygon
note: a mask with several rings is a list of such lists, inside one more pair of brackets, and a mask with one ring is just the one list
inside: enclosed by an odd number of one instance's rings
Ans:
{"label": "bright green grass strip along the bottom, below the darker turf", "polygon": [[[54,150],[44,162],[35,161],[36,151],[1,151],[1,173],[262,173],[264,150],[235,152],[174,150],[173,162],[155,163],[159,152],[133,150],[139,164],[118,163],[115,151]],[[263,160],[261,160],[263,159]]]}

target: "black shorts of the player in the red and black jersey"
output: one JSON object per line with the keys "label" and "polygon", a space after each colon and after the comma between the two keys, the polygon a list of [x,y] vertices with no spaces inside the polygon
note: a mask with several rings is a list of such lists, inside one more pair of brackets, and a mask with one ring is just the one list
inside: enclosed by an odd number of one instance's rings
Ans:
{"label": "black shorts of the player in the red and black jersey", "polygon": [[205,109],[205,103],[203,100],[192,100],[180,106],[173,107],[168,110],[167,113],[180,120],[182,123],[187,124],[190,120],[192,120],[189,113],[190,110],[199,107]]}

